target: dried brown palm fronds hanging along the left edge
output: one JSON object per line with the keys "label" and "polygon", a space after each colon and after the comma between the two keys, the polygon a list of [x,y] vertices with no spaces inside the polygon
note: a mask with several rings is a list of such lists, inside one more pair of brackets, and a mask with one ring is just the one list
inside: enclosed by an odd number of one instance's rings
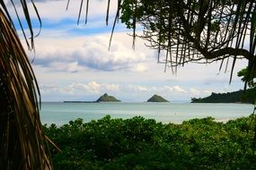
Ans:
{"label": "dried brown palm fronds hanging along the left edge", "polygon": [[[17,12],[13,1],[0,1],[0,169],[51,169],[47,137],[40,123],[39,88],[7,3],[12,3]],[[32,49],[34,34],[29,9],[26,1],[20,3],[31,41],[24,31],[23,35]],[[37,13],[35,6],[34,10]],[[22,27],[19,15],[15,16]]]}

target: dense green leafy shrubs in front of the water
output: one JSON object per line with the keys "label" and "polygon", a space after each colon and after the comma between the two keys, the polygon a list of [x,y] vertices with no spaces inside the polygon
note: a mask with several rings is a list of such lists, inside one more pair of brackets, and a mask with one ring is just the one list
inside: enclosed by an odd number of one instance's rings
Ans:
{"label": "dense green leafy shrubs in front of the water", "polygon": [[163,124],[107,115],[44,131],[62,149],[50,149],[55,169],[256,169],[253,127],[250,117]]}

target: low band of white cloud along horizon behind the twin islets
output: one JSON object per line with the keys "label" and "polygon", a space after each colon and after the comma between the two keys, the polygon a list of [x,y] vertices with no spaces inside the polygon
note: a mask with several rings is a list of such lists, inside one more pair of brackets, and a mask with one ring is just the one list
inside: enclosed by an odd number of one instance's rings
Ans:
{"label": "low band of white cloud along horizon behind the twin islets", "polygon": [[[96,99],[103,93],[119,97],[122,101],[146,101],[147,98],[153,94],[161,95],[168,100],[190,100],[190,98],[205,98],[212,92],[223,93],[225,89],[219,88],[185,88],[180,85],[175,86],[152,86],[148,84],[146,86],[137,84],[126,84],[119,82],[100,82],[100,81],[77,81],[73,83],[67,83],[65,85],[56,84],[44,84],[40,83],[40,90],[43,96],[58,95],[59,100],[65,100],[66,98],[75,99]],[[237,90],[230,89],[229,91]]]}

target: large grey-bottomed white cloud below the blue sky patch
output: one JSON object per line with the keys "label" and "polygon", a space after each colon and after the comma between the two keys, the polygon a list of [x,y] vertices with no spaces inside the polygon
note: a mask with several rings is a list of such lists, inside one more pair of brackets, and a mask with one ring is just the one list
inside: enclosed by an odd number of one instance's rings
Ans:
{"label": "large grey-bottomed white cloud below the blue sky patch", "polygon": [[[50,44],[46,41],[50,41]],[[130,71],[146,72],[146,62],[152,58],[134,51],[115,40],[108,50],[109,38],[91,36],[69,39],[40,39],[37,43],[33,64],[49,68],[50,71],[79,72]]]}

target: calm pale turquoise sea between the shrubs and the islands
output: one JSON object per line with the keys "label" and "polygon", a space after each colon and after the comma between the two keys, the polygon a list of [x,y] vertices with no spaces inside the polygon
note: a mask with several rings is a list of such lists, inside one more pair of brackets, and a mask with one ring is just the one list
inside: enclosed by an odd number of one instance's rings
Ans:
{"label": "calm pale turquoise sea between the shrubs and the islands", "polygon": [[212,116],[226,122],[252,114],[252,105],[246,104],[191,104],[191,103],[42,103],[41,122],[61,125],[77,118],[84,122],[112,118],[130,118],[141,115],[157,122],[182,123],[192,118]]}

